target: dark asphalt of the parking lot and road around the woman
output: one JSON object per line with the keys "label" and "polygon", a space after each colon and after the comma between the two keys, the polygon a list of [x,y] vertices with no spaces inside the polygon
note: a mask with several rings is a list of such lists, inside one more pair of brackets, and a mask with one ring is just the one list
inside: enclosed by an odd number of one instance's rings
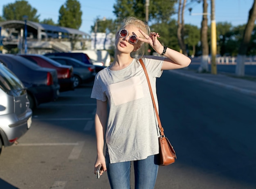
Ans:
{"label": "dark asphalt of the parking lot and road around the woman", "polygon": [[[31,129],[2,151],[1,189],[110,189],[106,174],[93,174],[91,89],[62,92],[33,112]],[[159,167],[155,189],[255,189],[256,98],[168,71],[157,90],[177,160]]]}

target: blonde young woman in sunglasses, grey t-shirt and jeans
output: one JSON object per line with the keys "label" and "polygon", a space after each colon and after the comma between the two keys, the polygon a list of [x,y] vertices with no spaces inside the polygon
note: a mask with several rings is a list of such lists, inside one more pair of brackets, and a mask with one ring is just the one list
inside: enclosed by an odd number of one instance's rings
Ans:
{"label": "blonde young woman in sunglasses, grey t-shirt and jeans", "polygon": [[[158,126],[141,58],[146,66],[157,103],[156,78],[163,70],[184,68],[189,57],[162,46],[158,33],[134,17],[125,18],[115,41],[115,59],[95,77],[91,97],[97,99],[95,132],[101,174],[107,171],[112,189],[130,189],[134,164],[135,189],[153,189],[157,178]],[[143,57],[148,43],[158,56]],[[108,110],[109,105],[109,110]],[[103,154],[106,137],[106,158]]]}

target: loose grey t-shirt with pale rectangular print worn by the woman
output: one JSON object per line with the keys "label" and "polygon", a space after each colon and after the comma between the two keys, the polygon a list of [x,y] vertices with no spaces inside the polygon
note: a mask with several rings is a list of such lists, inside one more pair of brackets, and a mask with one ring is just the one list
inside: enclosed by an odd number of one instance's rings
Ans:
{"label": "loose grey t-shirt with pale rectangular print worn by the woman", "polygon": [[[163,57],[142,58],[157,103],[156,77]],[[159,153],[158,124],[148,83],[139,60],[122,70],[105,68],[95,77],[91,98],[108,100],[106,143],[110,163],[142,160]]]}

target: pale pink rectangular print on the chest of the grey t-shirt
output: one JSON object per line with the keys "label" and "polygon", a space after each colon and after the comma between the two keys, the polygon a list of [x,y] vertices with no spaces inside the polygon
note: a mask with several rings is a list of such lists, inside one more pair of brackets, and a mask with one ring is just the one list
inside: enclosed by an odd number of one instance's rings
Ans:
{"label": "pale pink rectangular print on the chest of the grey t-shirt", "polygon": [[138,76],[109,86],[115,105],[120,105],[144,97],[141,79]]}

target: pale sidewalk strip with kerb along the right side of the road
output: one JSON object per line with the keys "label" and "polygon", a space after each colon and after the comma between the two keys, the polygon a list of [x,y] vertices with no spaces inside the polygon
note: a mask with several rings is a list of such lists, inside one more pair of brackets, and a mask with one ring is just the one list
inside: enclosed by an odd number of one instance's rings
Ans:
{"label": "pale sidewalk strip with kerb along the right side of the road", "polygon": [[211,73],[197,73],[196,70],[189,70],[186,68],[170,71],[175,74],[198,79],[200,81],[222,86],[224,88],[228,88],[256,97],[256,79],[250,81],[248,79],[232,77],[231,75],[224,73],[219,73],[217,75],[213,75]]}

